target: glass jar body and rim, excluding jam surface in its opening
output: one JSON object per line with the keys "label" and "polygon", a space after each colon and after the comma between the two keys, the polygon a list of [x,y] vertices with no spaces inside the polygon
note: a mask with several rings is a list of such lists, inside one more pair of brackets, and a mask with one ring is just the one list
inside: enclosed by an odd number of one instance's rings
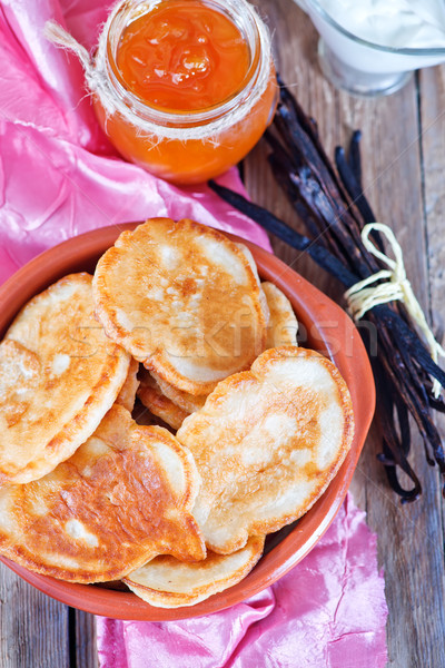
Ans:
{"label": "glass jar body and rim, excluding jam surface in its opening", "polygon": [[[204,0],[224,13],[247,41],[250,62],[237,90],[197,111],[170,111],[136,96],[117,66],[126,28],[169,0],[126,0],[111,12],[96,53],[93,104],[99,122],[128,160],[176,184],[196,184],[236,165],[270,124],[277,84],[267,28],[245,0]],[[202,2],[201,2],[202,3]]]}

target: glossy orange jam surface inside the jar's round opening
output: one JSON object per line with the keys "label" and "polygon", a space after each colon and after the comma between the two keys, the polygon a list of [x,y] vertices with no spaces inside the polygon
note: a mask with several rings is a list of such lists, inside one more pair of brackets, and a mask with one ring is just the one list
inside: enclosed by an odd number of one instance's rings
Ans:
{"label": "glossy orange jam surface inside the jar's round opening", "polygon": [[239,90],[250,65],[239,28],[204,2],[160,2],[122,33],[117,66],[128,88],[166,111],[198,111]]}

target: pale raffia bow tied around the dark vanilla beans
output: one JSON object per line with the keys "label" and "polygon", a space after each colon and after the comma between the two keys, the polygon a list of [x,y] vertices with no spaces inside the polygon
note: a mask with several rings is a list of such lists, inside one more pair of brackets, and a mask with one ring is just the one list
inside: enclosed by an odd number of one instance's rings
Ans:
{"label": "pale raffia bow tied around the dark vanilla beans", "polygon": [[[392,259],[376,248],[375,244],[369,239],[369,234],[373,230],[377,230],[385,235],[390,244],[395,259]],[[388,302],[394,301],[403,302],[409,316],[425,336],[432,358],[437,363],[439,356],[445,356],[445,350],[436,341],[413,292],[413,287],[406,277],[403,252],[393,230],[383,223],[369,223],[368,225],[365,225],[362,230],[362,240],[365,248],[386,264],[388,268],[382,269],[364,281],[359,281],[345,293],[354,320],[360,320],[365,313],[379,304],[387,304]],[[383,283],[378,283],[379,281],[383,281]],[[434,379],[433,394],[437,399],[439,393],[441,383]]]}

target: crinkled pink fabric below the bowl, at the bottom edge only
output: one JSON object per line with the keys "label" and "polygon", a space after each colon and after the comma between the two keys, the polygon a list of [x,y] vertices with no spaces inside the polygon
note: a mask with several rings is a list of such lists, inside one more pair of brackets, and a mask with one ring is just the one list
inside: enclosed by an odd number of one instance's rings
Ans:
{"label": "crinkled pink fabric below the bowl, at the bottom edge only", "polygon": [[98,619],[101,668],[383,668],[376,537],[349,495],[289,573],[221,612],[182,621]]}

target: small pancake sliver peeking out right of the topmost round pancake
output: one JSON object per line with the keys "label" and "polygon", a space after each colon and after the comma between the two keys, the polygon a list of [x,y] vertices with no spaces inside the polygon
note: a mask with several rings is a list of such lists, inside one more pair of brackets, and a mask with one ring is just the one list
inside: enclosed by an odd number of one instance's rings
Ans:
{"label": "small pancake sliver peeking out right of the topmost round pancake", "polygon": [[280,345],[296,345],[298,321],[294,308],[285,294],[273,283],[261,283],[263,292],[269,307],[266,348]]}

